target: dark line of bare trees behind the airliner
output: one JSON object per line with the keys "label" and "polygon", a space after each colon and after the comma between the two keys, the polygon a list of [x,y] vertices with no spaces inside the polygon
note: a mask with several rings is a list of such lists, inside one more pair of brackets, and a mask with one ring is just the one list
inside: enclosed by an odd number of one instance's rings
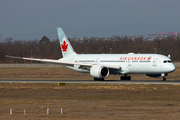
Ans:
{"label": "dark line of bare trees behind the airliner", "polygon": [[[110,38],[69,38],[78,54],[118,54],[118,53],[157,53],[171,55],[173,61],[180,61],[180,38],[156,38],[144,41],[143,38],[131,39],[127,36],[112,36]],[[30,61],[10,59],[5,55],[18,57],[34,57],[59,59],[62,57],[59,40],[49,40],[43,36],[41,40],[13,40],[5,38],[0,43],[0,63],[29,63]]]}

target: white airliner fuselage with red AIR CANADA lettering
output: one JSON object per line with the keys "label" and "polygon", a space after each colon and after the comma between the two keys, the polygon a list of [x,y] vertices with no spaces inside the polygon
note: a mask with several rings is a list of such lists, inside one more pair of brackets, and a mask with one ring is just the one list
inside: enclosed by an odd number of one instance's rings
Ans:
{"label": "white airliner fuselage with red AIR CANADA lettering", "polygon": [[[170,58],[160,54],[78,54],[60,60],[94,65],[119,65],[121,69],[110,69],[110,74],[162,74],[173,72],[176,67]],[[89,72],[68,67],[78,72]]]}

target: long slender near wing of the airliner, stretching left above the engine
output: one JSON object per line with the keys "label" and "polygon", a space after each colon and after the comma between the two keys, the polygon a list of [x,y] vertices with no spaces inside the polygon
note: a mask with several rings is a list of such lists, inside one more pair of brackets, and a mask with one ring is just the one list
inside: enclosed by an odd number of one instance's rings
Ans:
{"label": "long slender near wing of the airliner, stretching left above the engine", "polygon": [[[52,64],[60,64],[63,67],[64,66],[70,66],[74,67],[74,65],[79,65],[80,69],[85,69],[85,70],[90,70],[90,68],[96,64],[89,64],[89,63],[77,63],[77,62],[72,62],[72,61],[64,61],[64,60],[52,60],[52,59],[39,59],[39,58],[26,58],[26,57],[15,57],[15,56],[8,56],[6,57],[9,58],[15,58],[15,59],[23,59],[23,60],[33,60],[33,61],[40,61],[40,62],[45,62],[45,63],[52,63]],[[110,69],[121,69],[121,66],[118,65],[101,65]]]}

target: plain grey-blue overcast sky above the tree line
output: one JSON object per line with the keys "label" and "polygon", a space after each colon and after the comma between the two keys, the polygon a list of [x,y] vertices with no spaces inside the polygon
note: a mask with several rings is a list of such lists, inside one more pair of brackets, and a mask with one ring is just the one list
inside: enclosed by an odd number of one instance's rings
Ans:
{"label": "plain grey-blue overcast sky above the tree line", "polygon": [[28,40],[180,31],[180,0],[0,0],[0,35]]}

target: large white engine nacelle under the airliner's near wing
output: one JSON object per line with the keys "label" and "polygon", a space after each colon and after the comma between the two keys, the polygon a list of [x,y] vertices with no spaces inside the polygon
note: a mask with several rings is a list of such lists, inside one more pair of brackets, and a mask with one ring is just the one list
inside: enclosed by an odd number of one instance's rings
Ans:
{"label": "large white engine nacelle under the airliner's near wing", "polygon": [[104,66],[92,66],[90,69],[90,74],[94,78],[105,78],[109,75],[109,69]]}

